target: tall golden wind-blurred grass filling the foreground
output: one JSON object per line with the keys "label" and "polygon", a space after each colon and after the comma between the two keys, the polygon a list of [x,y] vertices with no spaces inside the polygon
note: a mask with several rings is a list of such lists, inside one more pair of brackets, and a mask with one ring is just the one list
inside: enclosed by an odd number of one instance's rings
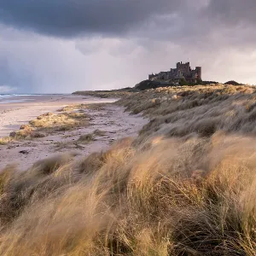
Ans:
{"label": "tall golden wind-blurred grass filling the foreground", "polygon": [[253,255],[252,138],[148,143],[121,142],[77,163],[40,161],[22,176],[8,172],[0,253]]}

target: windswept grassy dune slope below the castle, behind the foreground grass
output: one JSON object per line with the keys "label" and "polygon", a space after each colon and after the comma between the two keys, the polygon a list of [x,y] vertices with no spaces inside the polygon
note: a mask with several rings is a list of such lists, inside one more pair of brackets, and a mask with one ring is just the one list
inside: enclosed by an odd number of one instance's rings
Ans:
{"label": "windswept grassy dune slope below the castle, behind the foreground grass", "polygon": [[148,90],[119,104],[151,119],[141,131],[145,138],[152,134],[209,137],[218,130],[255,135],[255,99],[252,86],[218,84]]}

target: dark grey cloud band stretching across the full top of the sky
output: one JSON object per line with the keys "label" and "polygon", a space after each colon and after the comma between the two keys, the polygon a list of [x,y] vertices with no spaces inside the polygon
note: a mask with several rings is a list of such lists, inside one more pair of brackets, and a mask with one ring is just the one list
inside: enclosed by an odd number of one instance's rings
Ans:
{"label": "dark grey cloud band stretching across the full top of the sky", "polygon": [[141,37],[193,38],[253,26],[255,9],[255,0],[1,0],[0,22],[65,38],[137,31]]}

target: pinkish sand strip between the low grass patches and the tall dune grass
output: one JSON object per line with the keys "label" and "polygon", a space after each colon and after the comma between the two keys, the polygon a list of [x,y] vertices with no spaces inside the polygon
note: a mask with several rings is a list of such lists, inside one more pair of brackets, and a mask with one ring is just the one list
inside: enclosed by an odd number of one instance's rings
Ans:
{"label": "pinkish sand strip between the low grass patches and the tall dune grass", "polygon": [[[58,132],[32,141],[20,141],[0,146],[0,169],[13,163],[20,170],[26,170],[37,160],[70,151],[78,154],[76,158],[81,158],[108,148],[113,141],[121,137],[136,136],[143,125],[148,122],[140,115],[125,113],[124,108],[113,104],[107,104],[101,110],[86,109],[86,112],[92,117],[88,127]],[[104,136],[98,136],[95,141],[88,144],[74,143],[79,136],[92,133],[96,129],[104,131]]]}

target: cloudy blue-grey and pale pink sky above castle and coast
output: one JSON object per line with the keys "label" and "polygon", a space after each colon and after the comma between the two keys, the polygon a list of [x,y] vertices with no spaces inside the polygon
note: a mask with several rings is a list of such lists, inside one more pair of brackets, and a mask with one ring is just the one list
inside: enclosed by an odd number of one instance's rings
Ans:
{"label": "cloudy blue-grey and pale pink sky above castle and coast", "polygon": [[1,0],[0,94],[133,87],[189,61],[256,84],[255,0]]}

